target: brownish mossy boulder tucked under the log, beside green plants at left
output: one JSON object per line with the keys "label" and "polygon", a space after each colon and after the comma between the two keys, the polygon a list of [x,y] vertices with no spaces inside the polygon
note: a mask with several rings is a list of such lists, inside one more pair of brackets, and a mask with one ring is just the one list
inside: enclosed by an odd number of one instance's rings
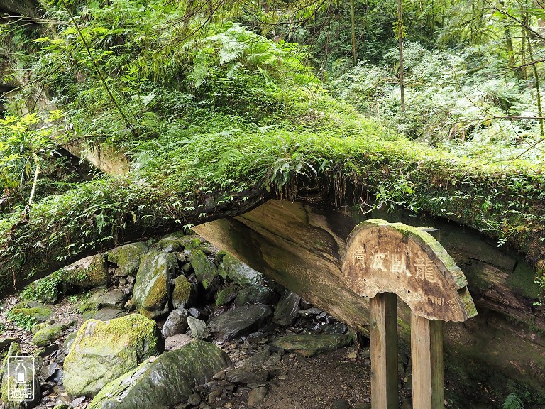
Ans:
{"label": "brownish mossy boulder tucked under the log, beside green plants at left", "polygon": [[108,284],[108,266],[102,254],[82,258],[64,268],[62,280],[77,287],[92,288]]}

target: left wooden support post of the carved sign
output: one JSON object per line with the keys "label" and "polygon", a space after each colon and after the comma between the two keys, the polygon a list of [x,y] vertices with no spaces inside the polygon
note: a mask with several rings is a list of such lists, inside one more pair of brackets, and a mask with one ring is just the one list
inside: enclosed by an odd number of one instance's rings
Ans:
{"label": "left wooden support post of the carved sign", "polygon": [[370,299],[371,407],[397,409],[397,295]]}

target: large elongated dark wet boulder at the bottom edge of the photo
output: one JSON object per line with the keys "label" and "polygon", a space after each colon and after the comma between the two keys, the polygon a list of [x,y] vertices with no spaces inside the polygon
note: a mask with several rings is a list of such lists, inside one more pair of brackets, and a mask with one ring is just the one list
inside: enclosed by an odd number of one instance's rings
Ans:
{"label": "large elongated dark wet boulder at the bottom edge of the photo", "polygon": [[170,408],[230,365],[229,356],[214,344],[190,342],[112,381],[87,409]]}

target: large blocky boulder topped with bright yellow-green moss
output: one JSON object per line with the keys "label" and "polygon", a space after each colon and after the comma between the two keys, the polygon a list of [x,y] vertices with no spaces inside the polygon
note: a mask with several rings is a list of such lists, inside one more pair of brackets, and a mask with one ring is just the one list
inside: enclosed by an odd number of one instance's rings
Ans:
{"label": "large blocky boulder topped with bright yellow-green moss", "polygon": [[163,350],[155,321],[143,315],[87,320],[65,359],[64,386],[72,396],[95,396],[106,383]]}

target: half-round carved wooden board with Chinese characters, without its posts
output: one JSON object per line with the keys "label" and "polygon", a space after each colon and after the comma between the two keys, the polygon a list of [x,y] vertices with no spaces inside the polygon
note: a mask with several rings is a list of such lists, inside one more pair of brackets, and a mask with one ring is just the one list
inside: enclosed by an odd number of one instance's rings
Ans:
{"label": "half-round carved wooden board with Chinese characters, without its posts", "polygon": [[414,315],[429,320],[466,321],[477,314],[466,276],[417,227],[381,219],[359,224],[348,237],[343,274],[358,295],[395,293]]}

